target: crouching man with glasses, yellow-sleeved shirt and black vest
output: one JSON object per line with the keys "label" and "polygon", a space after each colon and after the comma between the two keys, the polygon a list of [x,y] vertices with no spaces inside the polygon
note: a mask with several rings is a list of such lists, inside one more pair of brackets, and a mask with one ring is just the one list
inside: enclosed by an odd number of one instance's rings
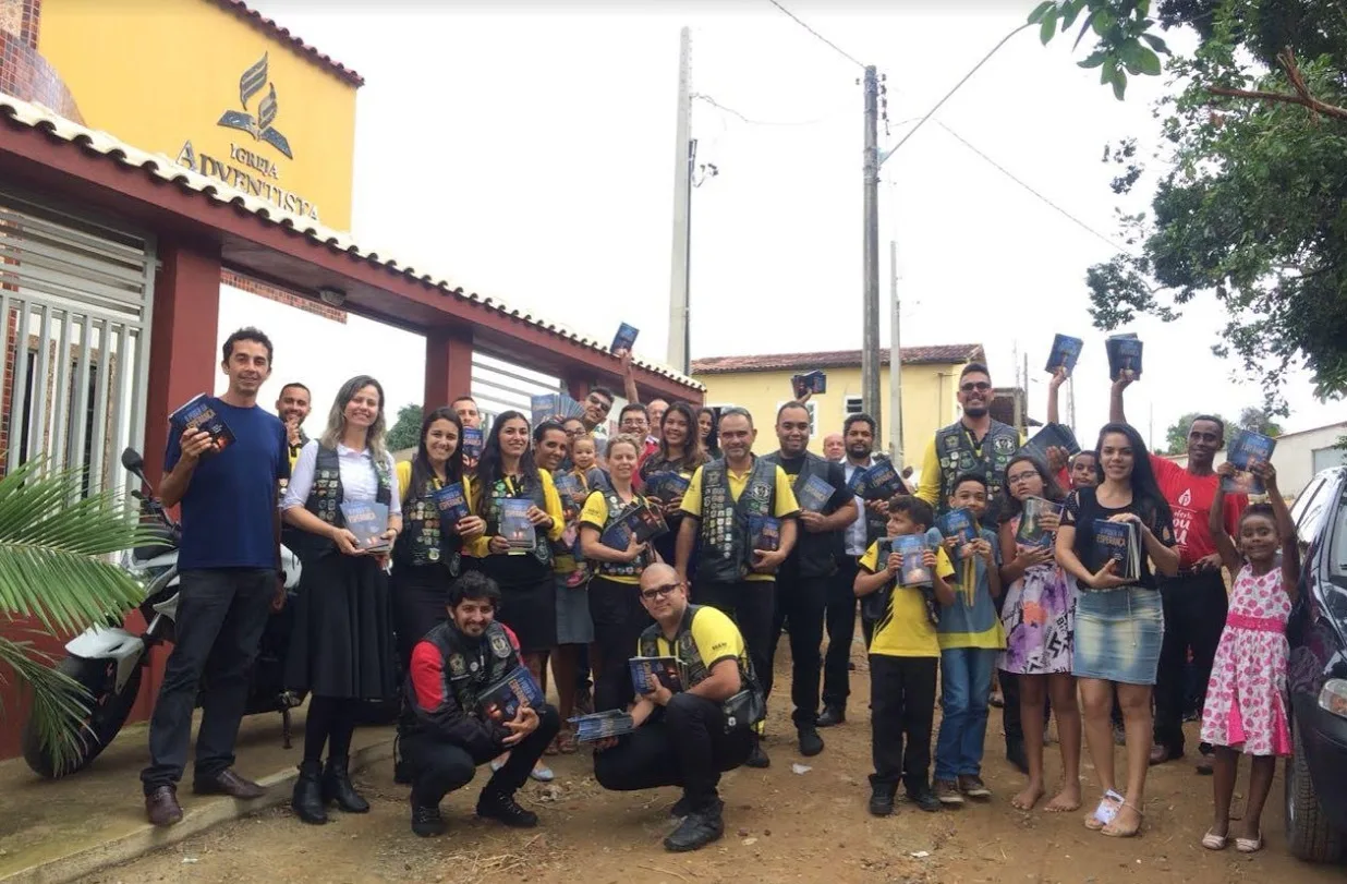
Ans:
{"label": "crouching man with glasses, yellow-sleeved shirt and black vest", "polygon": [[687,602],[687,586],[668,565],[641,574],[641,604],[655,624],[641,635],[641,656],[674,656],[684,690],[651,676],[651,693],[632,706],[634,730],[598,744],[594,779],[603,788],[634,791],[682,786],[672,815],[683,823],[664,840],[672,852],[696,850],[725,834],[721,774],[748,760],[764,716],[761,687],[744,636],[717,610]]}

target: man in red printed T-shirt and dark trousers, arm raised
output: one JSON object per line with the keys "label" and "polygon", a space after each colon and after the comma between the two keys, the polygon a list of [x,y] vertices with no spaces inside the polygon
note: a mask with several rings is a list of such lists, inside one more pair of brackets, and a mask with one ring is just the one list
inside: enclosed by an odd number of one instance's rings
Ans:
{"label": "man in red printed T-shirt and dark trousers, arm raised", "polygon": [[[1113,384],[1109,399],[1109,419],[1126,423],[1122,393],[1134,380],[1133,372],[1122,372]],[[1183,468],[1167,457],[1150,455],[1150,466],[1160,482],[1160,493],[1169,503],[1175,519],[1175,540],[1179,546],[1179,574],[1160,578],[1160,601],[1164,605],[1165,637],[1160,647],[1160,668],[1156,674],[1156,738],[1150,748],[1150,763],[1183,757],[1184,664],[1192,650],[1197,690],[1206,695],[1216,645],[1226,627],[1226,581],[1220,575],[1220,552],[1208,527],[1211,504],[1220,493],[1220,477],[1212,461],[1224,446],[1226,424],[1214,415],[1197,415],[1188,427],[1188,466]],[[1239,516],[1249,505],[1245,495],[1226,495],[1226,531],[1239,534]],[[1202,709],[1203,697],[1197,698]],[[1211,747],[1199,748],[1199,774],[1211,774]]]}

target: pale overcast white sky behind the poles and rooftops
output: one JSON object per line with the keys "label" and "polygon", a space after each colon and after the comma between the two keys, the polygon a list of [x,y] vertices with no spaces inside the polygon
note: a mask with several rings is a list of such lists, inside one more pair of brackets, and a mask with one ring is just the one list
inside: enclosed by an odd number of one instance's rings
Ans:
{"label": "pale overcast white sky behind the poles and rooftops", "polygon": [[[360,243],[599,340],[630,322],[641,329],[637,350],[664,361],[682,26],[692,28],[699,160],[718,170],[692,197],[699,358],[859,346],[862,67],[843,53],[885,77],[886,148],[1034,5],[783,4],[841,51],[769,0],[251,5],[365,77]],[[1117,167],[1102,162],[1103,148],[1136,137],[1149,156],[1152,102],[1165,90],[1164,80],[1141,78],[1118,102],[1074,63],[1086,51],[1072,54],[1070,40],[1045,49],[1033,30],[1016,35],[888,160],[880,191],[881,345],[892,240],[902,344],[982,344],[1002,385],[1028,358],[1030,415],[1043,416],[1053,333],[1086,338],[1083,439],[1107,418],[1105,336],[1090,325],[1084,288],[1086,268],[1117,251]],[[1153,182],[1142,179],[1123,208],[1144,208]],[[263,303],[226,291],[221,337]],[[1177,322],[1126,329],[1146,346],[1127,399],[1142,435],[1161,441],[1184,412],[1237,416],[1259,403],[1241,367],[1211,353],[1223,321],[1208,298]],[[387,376],[389,406],[420,400],[416,336],[358,318],[345,329],[279,322],[277,376],[333,345],[373,340],[399,353],[374,372]],[[326,411],[342,379],[306,380]],[[1317,403],[1304,375],[1286,395],[1286,430],[1347,416],[1342,403]]]}

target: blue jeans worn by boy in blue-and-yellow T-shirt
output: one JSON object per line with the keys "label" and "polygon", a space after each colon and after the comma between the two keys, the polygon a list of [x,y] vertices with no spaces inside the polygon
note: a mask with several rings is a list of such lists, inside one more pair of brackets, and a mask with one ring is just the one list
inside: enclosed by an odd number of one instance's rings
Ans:
{"label": "blue jeans worn by boy in blue-and-yellow T-shirt", "polygon": [[947,648],[940,652],[940,736],[935,743],[935,779],[982,772],[987,736],[987,698],[997,651]]}

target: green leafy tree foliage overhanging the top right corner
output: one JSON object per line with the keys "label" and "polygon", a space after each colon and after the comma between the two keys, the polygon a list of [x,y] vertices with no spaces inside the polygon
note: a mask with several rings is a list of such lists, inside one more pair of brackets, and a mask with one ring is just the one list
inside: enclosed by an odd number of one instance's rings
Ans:
{"label": "green leafy tree foliage overhanging the top right corner", "polygon": [[[1045,3],[1030,20],[1051,39],[1084,13],[1098,40],[1080,63],[1118,78],[1152,73],[1138,46],[1188,26],[1191,57],[1172,58],[1161,100],[1165,147],[1149,213],[1122,214],[1133,251],[1091,267],[1091,315],[1115,329],[1138,315],[1173,319],[1195,299],[1226,313],[1218,356],[1261,380],[1285,412],[1286,371],[1305,365],[1321,398],[1347,392],[1347,11],[1340,0]],[[1037,16],[1037,19],[1034,19]],[[1102,30],[1095,23],[1103,20]],[[1053,24],[1049,27],[1049,20]],[[1088,20],[1088,19],[1087,19]],[[1079,38],[1078,38],[1079,39]],[[1127,61],[1133,63],[1129,65]],[[1122,73],[1119,73],[1122,71]],[[1127,194],[1145,178],[1136,146],[1106,151]]]}

